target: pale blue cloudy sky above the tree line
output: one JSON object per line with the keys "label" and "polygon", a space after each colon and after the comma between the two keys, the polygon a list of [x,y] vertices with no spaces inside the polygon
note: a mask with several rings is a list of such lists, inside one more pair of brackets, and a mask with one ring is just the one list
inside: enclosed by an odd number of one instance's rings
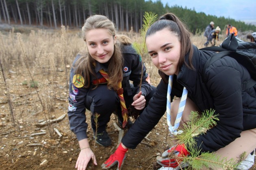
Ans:
{"label": "pale blue cloudy sky above the tree line", "polygon": [[[156,2],[156,0],[152,0]],[[256,0],[161,0],[163,5],[195,9],[197,13],[230,17],[237,21],[256,20]]]}

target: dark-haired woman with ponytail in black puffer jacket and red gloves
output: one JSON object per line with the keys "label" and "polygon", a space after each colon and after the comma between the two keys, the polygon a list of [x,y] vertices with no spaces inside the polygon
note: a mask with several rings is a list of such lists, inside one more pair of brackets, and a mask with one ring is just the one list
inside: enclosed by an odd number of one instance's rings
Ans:
{"label": "dark-haired woman with ponytail in black puffer jacket and red gloves", "polygon": [[[103,164],[108,169],[124,163],[128,149],[135,149],[154,128],[167,110],[167,97],[179,97],[171,103],[171,125],[174,126],[180,97],[184,87],[187,100],[180,127],[189,121],[191,110],[204,112],[214,109],[217,125],[205,134],[195,136],[194,149],[215,152],[227,160],[239,161],[245,152],[245,160],[238,169],[249,169],[254,164],[256,148],[256,81],[248,70],[234,58],[224,56],[204,70],[204,65],[213,51],[203,51],[192,45],[190,32],[172,13],[167,13],[153,23],[146,33],[146,46],[153,64],[158,68],[161,81],[148,106],[121,140],[121,144]],[[171,94],[167,95],[168,79],[173,76]],[[248,81],[254,85],[246,87]],[[168,154],[157,158],[157,163],[178,168],[182,156],[189,156],[186,143],[178,144],[166,151],[180,155],[178,162]],[[167,168],[167,169],[168,169]],[[223,167],[219,167],[223,169]]]}

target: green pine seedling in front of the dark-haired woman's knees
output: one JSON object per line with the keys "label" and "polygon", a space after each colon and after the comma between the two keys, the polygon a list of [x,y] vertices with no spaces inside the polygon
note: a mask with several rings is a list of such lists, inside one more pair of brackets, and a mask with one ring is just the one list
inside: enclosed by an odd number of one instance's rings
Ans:
{"label": "green pine seedling in front of the dark-haired woman's knees", "polygon": [[[203,167],[212,168],[217,167],[225,170],[232,170],[238,166],[238,163],[234,159],[227,160],[226,157],[222,158],[215,153],[201,153],[195,147],[195,136],[205,134],[207,130],[217,125],[216,121],[218,115],[215,115],[215,110],[210,109],[202,113],[201,116],[195,111],[191,111],[190,121],[184,125],[182,129],[183,133],[174,137],[178,140],[177,144],[185,143],[185,146],[189,150],[190,156],[177,156],[174,153],[169,154],[170,159],[182,159],[183,163],[188,163],[189,167],[194,170],[200,170]],[[242,159],[242,158],[241,158]]]}

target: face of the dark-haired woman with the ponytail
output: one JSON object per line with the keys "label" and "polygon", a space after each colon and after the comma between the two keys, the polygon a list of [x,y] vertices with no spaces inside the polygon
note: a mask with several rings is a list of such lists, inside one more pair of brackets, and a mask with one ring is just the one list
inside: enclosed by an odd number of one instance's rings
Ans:
{"label": "face of the dark-haired woman with the ponytail", "polygon": [[153,64],[167,75],[178,75],[180,60],[180,40],[167,28],[146,38],[148,53]]}

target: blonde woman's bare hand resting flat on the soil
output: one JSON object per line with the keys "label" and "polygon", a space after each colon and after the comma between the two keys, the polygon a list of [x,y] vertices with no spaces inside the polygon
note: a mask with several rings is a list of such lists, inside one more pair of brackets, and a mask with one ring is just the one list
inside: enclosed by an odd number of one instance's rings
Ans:
{"label": "blonde woman's bare hand resting flat on the soil", "polygon": [[77,170],[85,170],[89,161],[93,160],[93,164],[97,165],[96,157],[89,147],[81,149],[76,161]]}

